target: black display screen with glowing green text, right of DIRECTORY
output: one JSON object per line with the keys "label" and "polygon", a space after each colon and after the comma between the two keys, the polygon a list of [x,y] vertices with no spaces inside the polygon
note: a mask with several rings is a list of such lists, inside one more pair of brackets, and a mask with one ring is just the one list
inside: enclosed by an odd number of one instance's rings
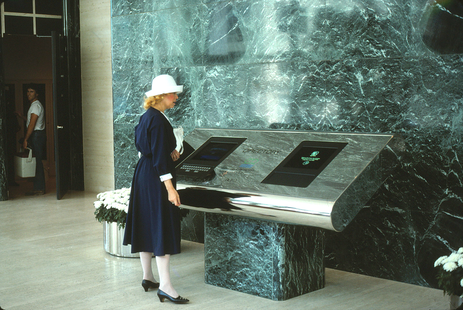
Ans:
{"label": "black display screen with glowing green text, right of DIRECTORY", "polygon": [[337,148],[303,146],[284,167],[317,170],[336,150]]}

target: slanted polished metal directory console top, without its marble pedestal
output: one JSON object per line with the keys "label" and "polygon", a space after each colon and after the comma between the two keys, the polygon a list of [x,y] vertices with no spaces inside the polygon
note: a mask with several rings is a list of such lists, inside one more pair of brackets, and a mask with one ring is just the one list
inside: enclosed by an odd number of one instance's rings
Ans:
{"label": "slanted polished metal directory console top, without its marble pedestal", "polygon": [[[394,167],[393,134],[198,128],[181,207],[342,231]],[[389,159],[388,159],[389,158]]]}

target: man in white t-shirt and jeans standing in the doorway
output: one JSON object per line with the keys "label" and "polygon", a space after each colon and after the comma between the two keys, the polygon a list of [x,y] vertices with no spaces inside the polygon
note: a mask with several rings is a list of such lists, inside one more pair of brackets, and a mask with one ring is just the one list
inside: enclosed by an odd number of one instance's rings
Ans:
{"label": "man in white t-shirt and jeans standing in the doorway", "polygon": [[45,113],[42,103],[38,101],[37,85],[31,84],[27,89],[27,99],[31,107],[27,111],[27,132],[24,137],[24,149],[29,147],[36,159],[34,190],[26,192],[27,196],[43,195],[45,193],[45,174],[42,159],[44,158]]}

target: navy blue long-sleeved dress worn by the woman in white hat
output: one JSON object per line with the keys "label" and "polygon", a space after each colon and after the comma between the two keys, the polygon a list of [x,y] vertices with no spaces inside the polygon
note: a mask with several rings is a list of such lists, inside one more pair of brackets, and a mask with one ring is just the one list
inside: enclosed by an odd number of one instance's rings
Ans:
{"label": "navy blue long-sleeved dress worn by the woman in white hat", "polygon": [[171,173],[175,187],[174,131],[163,113],[150,107],[135,126],[135,145],[142,156],[135,167],[125,224],[124,245],[131,252],[155,256],[180,253],[179,208],[169,202],[159,176]]}

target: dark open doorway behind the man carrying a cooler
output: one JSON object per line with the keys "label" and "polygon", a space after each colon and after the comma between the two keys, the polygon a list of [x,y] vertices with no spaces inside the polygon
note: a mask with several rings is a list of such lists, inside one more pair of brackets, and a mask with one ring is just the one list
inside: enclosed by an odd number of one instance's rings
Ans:
{"label": "dark open doorway behind the man carrying a cooler", "polygon": [[[24,139],[27,112],[31,105],[26,93],[30,83],[38,85],[38,100],[42,103],[45,112],[46,140],[44,146],[44,173],[46,192],[56,191],[55,180],[55,156],[53,149],[53,102],[51,101],[51,89],[53,84],[51,70],[51,38],[37,36],[4,35],[3,42],[3,68],[5,95],[13,104],[13,110],[19,115],[19,132],[16,133],[13,145],[6,150],[19,151],[22,147],[21,139]],[[10,150],[13,148],[13,150]],[[32,190],[33,178],[15,177],[14,182],[9,182],[9,197],[19,197]],[[19,186],[14,186],[19,184]]]}

